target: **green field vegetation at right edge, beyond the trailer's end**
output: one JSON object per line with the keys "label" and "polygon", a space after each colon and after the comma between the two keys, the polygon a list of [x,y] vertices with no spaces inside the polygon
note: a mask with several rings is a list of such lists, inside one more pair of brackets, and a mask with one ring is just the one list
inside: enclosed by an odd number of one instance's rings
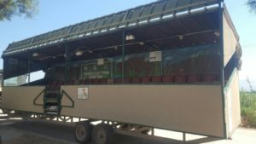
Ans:
{"label": "green field vegetation at right edge, beyond the trailer's end", "polygon": [[245,92],[240,93],[241,116],[247,119],[249,127],[256,128],[256,93]]}

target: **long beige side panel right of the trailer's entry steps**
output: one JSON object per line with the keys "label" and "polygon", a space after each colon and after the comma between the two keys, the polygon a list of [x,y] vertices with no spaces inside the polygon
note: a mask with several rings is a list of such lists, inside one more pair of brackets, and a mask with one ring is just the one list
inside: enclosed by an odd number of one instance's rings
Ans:
{"label": "long beige side panel right of the trailer's entry steps", "polygon": [[[78,99],[78,88],[89,99]],[[219,85],[77,85],[61,86],[75,103],[61,115],[143,124],[166,130],[224,136]],[[71,105],[63,96],[61,105]]]}

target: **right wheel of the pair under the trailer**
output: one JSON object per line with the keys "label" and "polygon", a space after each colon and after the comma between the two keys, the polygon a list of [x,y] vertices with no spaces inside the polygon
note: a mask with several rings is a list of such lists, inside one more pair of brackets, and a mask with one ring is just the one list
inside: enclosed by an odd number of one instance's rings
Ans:
{"label": "right wheel of the pair under the trailer", "polygon": [[97,124],[91,133],[94,144],[110,144],[112,141],[113,128],[108,124]]}

